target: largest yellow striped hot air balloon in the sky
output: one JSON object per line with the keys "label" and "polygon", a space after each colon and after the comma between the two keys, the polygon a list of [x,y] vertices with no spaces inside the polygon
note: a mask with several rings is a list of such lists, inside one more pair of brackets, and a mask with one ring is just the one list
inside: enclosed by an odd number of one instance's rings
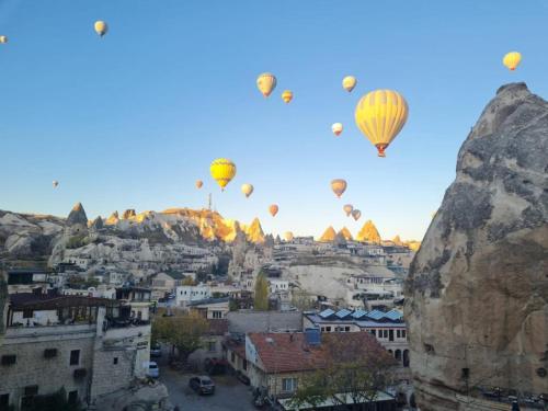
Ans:
{"label": "largest yellow striped hot air balloon in the sky", "polygon": [[406,99],[392,90],[372,91],[357,103],[356,125],[377,147],[379,157],[386,157],[385,150],[403,128],[408,112]]}

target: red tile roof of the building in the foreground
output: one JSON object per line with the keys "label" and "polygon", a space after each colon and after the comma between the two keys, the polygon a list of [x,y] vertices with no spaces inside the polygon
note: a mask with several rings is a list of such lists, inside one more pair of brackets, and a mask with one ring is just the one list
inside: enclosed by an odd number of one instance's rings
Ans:
{"label": "red tile roof of the building in the foreground", "polygon": [[[329,350],[326,342],[335,343],[335,346],[349,347],[344,355],[346,359],[352,358],[353,346],[366,347],[373,352],[386,352],[368,332],[322,334],[322,343],[317,346],[309,345],[302,332],[250,333],[248,336],[255,346],[266,373],[290,373],[323,367]],[[266,341],[269,338],[273,340],[273,343]]]}

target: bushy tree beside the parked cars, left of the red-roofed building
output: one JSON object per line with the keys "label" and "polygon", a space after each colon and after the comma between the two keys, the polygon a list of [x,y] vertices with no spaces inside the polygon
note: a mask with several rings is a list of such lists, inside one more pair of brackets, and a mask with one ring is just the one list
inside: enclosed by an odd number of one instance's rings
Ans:
{"label": "bushy tree beside the parked cars, left of the red-roofed building", "polygon": [[195,312],[157,316],[152,321],[152,340],[171,344],[179,359],[185,363],[189,355],[202,347],[202,336],[208,329],[207,320]]}

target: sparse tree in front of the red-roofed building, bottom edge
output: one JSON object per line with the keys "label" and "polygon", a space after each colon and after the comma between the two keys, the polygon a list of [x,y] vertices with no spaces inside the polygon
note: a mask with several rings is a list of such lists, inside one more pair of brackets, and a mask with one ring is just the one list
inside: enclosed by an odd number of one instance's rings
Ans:
{"label": "sparse tree in front of the red-roofed building, bottom edge", "polygon": [[365,335],[359,334],[322,335],[322,362],[299,379],[290,400],[293,407],[316,409],[329,400],[359,410],[361,404],[375,401],[377,393],[392,383],[395,359],[374,338],[364,340]]}

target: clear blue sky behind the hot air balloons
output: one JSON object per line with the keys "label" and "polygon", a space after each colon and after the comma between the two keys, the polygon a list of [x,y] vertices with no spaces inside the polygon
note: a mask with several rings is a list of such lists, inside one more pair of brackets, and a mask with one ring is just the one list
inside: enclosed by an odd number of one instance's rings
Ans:
{"label": "clear blue sky behind the hot air balloons", "polygon": [[[385,238],[420,239],[496,89],[526,81],[548,95],[547,21],[541,0],[1,0],[0,209],[64,216],[80,201],[93,218],[199,208],[212,192],[226,218],[258,216],[265,231],[356,232],[370,218]],[[509,72],[513,49],[524,59]],[[263,71],[278,79],[270,99],[255,88]],[[358,79],[351,94],[346,75]],[[377,88],[410,106],[386,159],[353,119]],[[222,194],[208,171],[217,157],[238,165]],[[349,181],[342,199],[335,178]]]}

